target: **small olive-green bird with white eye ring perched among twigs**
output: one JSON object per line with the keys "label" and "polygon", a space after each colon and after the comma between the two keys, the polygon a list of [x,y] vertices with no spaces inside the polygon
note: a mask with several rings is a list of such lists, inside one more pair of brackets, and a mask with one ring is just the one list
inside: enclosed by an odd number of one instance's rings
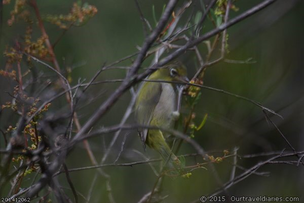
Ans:
{"label": "small olive-green bird with white eye ring perched among twigs", "polygon": [[[147,80],[188,82],[186,68],[178,63],[162,67],[149,75]],[[176,120],[177,88],[173,83],[148,82],[142,83],[135,103],[135,118],[140,125],[149,125],[172,129]],[[178,116],[177,116],[178,117]],[[180,166],[179,159],[172,153],[165,137],[169,134],[159,129],[138,129],[139,136],[149,147],[158,151],[164,161],[168,160],[170,168]],[[171,155],[170,155],[171,154]]]}

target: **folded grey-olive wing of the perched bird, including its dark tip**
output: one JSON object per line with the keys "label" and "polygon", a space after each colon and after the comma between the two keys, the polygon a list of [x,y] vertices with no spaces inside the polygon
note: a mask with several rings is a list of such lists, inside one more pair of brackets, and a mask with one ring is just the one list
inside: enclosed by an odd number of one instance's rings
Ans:
{"label": "folded grey-olive wing of the perched bird, including its dark tip", "polygon": [[[150,125],[151,119],[154,115],[156,105],[158,104],[162,94],[162,84],[157,82],[143,83],[135,105],[135,117],[138,124]],[[139,136],[145,148],[145,140],[148,129],[138,129]]]}

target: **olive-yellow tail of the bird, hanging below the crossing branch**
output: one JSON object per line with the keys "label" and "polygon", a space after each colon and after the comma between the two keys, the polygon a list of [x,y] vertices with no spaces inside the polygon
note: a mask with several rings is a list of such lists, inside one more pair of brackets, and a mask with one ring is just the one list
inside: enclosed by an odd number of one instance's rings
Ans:
{"label": "olive-yellow tail of the bird, hanging below the crossing branch", "polygon": [[179,171],[182,168],[180,160],[173,154],[160,130],[149,130],[146,143],[161,154],[169,169]]}

